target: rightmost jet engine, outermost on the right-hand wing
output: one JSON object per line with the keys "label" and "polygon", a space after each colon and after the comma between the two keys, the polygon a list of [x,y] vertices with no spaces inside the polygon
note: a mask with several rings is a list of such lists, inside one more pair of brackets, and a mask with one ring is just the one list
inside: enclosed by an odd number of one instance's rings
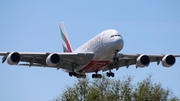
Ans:
{"label": "rightmost jet engine, outermost on the right-hand wing", "polygon": [[164,67],[170,67],[172,65],[174,65],[176,62],[176,58],[173,55],[165,55],[162,58],[162,65]]}

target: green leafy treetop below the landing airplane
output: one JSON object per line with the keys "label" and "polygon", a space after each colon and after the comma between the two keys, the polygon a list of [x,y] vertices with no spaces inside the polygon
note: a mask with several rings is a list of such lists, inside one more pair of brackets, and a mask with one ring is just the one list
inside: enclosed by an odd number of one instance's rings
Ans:
{"label": "green leafy treetop below the landing airplane", "polygon": [[73,86],[66,86],[53,101],[178,101],[169,88],[154,83],[151,75],[133,84],[132,76],[113,79],[77,79]]}

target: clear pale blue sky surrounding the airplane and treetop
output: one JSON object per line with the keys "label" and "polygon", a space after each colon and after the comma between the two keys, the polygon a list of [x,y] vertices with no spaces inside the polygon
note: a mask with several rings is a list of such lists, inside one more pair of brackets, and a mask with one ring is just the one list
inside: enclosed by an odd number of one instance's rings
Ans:
{"label": "clear pale blue sky surrounding the airplane and treetop", "polygon": [[[121,53],[180,54],[179,4],[179,0],[1,0],[0,51],[62,52],[63,21],[73,49],[113,28],[124,38]],[[180,96],[179,67],[177,58],[171,68],[151,63],[113,72],[115,78],[132,75],[134,82],[152,74],[155,82]],[[0,64],[0,101],[52,100],[75,80],[61,70]]]}

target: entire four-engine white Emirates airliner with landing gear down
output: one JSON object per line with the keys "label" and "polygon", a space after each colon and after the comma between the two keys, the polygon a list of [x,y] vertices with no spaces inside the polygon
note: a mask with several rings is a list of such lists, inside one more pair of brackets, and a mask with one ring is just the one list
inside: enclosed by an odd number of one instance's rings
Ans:
{"label": "entire four-engine white Emirates airliner with landing gear down", "polygon": [[175,64],[179,54],[123,54],[119,53],[124,46],[123,37],[115,29],[108,29],[78,49],[71,47],[65,26],[60,23],[60,32],[64,52],[0,52],[2,63],[9,65],[39,66],[63,69],[69,76],[85,78],[92,73],[92,78],[101,78],[99,71],[108,71],[108,77],[114,77],[112,69],[135,65],[136,68],[149,66],[150,62],[160,62],[164,67]]}

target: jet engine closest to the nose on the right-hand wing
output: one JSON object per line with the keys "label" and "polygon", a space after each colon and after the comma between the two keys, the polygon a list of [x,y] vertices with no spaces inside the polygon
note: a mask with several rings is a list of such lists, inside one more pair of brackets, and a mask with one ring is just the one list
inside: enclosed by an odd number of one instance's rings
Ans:
{"label": "jet engine closest to the nose on the right-hand wing", "polygon": [[145,66],[148,66],[149,63],[150,63],[150,59],[147,55],[140,55],[136,59],[136,66],[137,67],[145,67]]}

